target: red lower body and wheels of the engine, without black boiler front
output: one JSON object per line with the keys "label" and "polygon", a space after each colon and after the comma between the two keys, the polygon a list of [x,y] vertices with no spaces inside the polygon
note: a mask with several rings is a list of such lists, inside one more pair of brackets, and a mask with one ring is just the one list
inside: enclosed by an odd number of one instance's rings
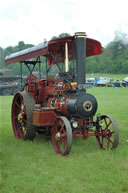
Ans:
{"label": "red lower body and wheels of the engine, without black boiler front", "polygon": [[[67,87],[62,84],[62,80],[59,83],[50,81],[48,84],[45,80],[36,81],[34,79],[33,81],[31,76],[27,78],[28,80],[29,84],[26,83],[24,91],[16,93],[14,96],[12,105],[12,123],[16,138],[33,140],[35,133],[50,135],[54,149],[60,155],[69,154],[72,138],[75,137],[87,140],[94,136],[101,149],[117,147],[118,127],[111,116],[98,114],[94,120],[93,117],[83,118],[72,115],[67,111],[66,100],[74,93],[77,95],[75,89],[67,90]],[[38,87],[39,91],[37,91]],[[44,98],[40,97],[43,92],[45,93]],[[18,102],[18,97],[21,102]],[[33,106],[31,104],[31,112],[29,112],[31,115],[29,115],[26,109],[32,101]]]}

